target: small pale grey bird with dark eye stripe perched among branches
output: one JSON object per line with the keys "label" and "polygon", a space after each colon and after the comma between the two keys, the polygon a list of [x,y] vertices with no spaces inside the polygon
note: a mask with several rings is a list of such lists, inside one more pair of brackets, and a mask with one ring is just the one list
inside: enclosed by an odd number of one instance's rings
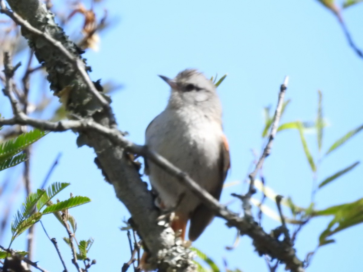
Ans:
{"label": "small pale grey bird with dark eye stripe perched among branches", "polygon": [[[171,87],[170,98],[165,110],[148,125],[146,145],[219,200],[230,155],[216,86],[196,69],[181,71],[174,79],[159,77]],[[173,230],[184,240],[190,220],[188,238],[195,241],[215,213],[176,177],[147,158],[145,173],[156,192],[157,206],[174,211]]]}

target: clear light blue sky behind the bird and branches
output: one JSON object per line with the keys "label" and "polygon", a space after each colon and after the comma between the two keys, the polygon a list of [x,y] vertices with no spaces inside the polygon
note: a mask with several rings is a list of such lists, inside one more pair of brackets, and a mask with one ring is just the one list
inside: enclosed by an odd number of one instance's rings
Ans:
{"label": "clear light blue sky behind the bird and branches", "polygon": [[[362,124],[363,60],[348,46],[336,18],[318,1],[262,1],[257,4],[255,1],[135,3],[109,0],[103,2],[102,7],[109,10],[109,18],[117,23],[102,33],[100,50],[89,50],[85,57],[92,66],[93,80],[102,78],[102,82],[123,85],[112,94],[111,106],[119,129],[128,131],[129,139],[135,143],[144,143],[145,128],[166,106],[169,88],[158,74],[174,77],[185,68],[197,68],[207,77],[228,73],[218,88],[224,130],[231,148],[232,170],[226,183],[240,183],[226,188],[221,202],[233,201],[231,208],[236,212],[240,211],[240,205],[230,194],[247,190],[244,180],[254,160],[251,150],[260,152],[263,144],[263,108],[275,107],[285,75],[290,77],[286,99],[291,102],[282,123],[314,121],[318,90],[322,91],[327,123],[323,151],[344,133]],[[363,5],[356,5],[343,13],[354,41],[361,48],[362,12]],[[323,157],[317,180],[362,160],[362,137],[357,135],[339,150]],[[318,152],[316,138],[314,132],[306,132],[314,155]],[[113,188],[103,181],[93,163],[93,151],[87,147],[77,148],[75,141],[76,135],[71,132],[50,133],[35,145],[33,187],[40,186],[54,158],[61,152],[61,160],[50,182],[72,184],[65,190],[64,198],[72,191],[74,195],[92,199],[91,203],[70,210],[78,221],[77,238],[95,238],[89,256],[97,260],[97,265],[91,269],[119,271],[130,258],[126,233],[119,231],[129,213],[116,199]],[[290,196],[296,205],[309,205],[313,176],[297,131],[278,133],[263,173],[268,186],[277,193]],[[359,165],[319,191],[315,198],[317,209],[361,198],[362,174]],[[143,180],[147,181],[147,177]],[[23,195],[19,194],[17,201],[22,199]],[[273,203],[268,204],[276,210]],[[287,210],[285,212],[289,215]],[[295,245],[300,259],[317,246],[318,236],[329,219],[313,219],[303,228]],[[70,251],[61,240],[66,233],[60,224],[52,216],[42,222],[48,234],[57,238],[64,258],[70,260]],[[268,217],[263,219],[267,232],[277,224]],[[334,235],[337,242],[320,248],[307,271],[357,271],[362,227],[358,225]],[[233,244],[235,235],[235,230],[217,218],[193,245],[221,268],[225,258],[231,269],[267,271],[264,258],[253,252],[250,238],[243,236],[233,251],[224,249]],[[49,271],[60,271],[56,252],[40,226],[37,226],[36,239],[35,259],[39,265]],[[1,243],[6,244],[7,240],[4,238]],[[21,249],[24,243],[19,239],[13,246]],[[72,269],[70,264],[68,269]],[[279,271],[283,271],[282,265]]]}

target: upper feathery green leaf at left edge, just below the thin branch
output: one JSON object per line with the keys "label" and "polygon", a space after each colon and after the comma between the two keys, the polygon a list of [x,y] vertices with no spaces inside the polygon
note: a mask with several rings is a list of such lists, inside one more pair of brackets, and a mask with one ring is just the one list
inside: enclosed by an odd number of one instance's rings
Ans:
{"label": "upper feathery green leaf at left edge, just below the thin branch", "polygon": [[23,151],[32,143],[44,137],[48,132],[39,129],[33,129],[29,132],[22,133],[15,139],[6,141],[0,144],[0,161],[14,156],[15,154]]}

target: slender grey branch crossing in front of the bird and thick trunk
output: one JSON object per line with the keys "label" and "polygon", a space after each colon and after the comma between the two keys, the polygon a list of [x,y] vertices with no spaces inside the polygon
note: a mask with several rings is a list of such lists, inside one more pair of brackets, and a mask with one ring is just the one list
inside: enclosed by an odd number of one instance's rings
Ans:
{"label": "slender grey branch crossing in front of the bird and thick trunk", "polygon": [[[285,85],[283,86],[284,88],[286,88]],[[284,88],[282,87],[281,89]],[[280,94],[280,96],[282,95]],[[9,99],[11,98],[9,97]],[[282,99],[280,98],[280,100]],[[193,181],[187,173],[181,171],[179,168],[171,164],[171,162],[169,162],[166,158],[160,156],[158,153],[148,149],[147,146],[137,145],[127,140],[123,136],[123,133],[121,131],[114,128],[105,127],[99,123],[96,123],[92,119],[63,120],[58,122],[50,122],[46,120],[30,118],[22,112],[10,119],[0,118],[0,125],[13,124],[28,124],[39,129],[50,131],[66,131],[69,129],[73,129],[75,131],[94,131],[107,137],[115,145],[125,148],[125,150],[128,152],[147,157],[164,171],[166,171],[168,174],[176,177],[181,184],[191,190],[218,216],[224,218],[227,221],[228,226],[236,227],[241,231],[241,234],[247,234],[248,236],[250,236],[255,241],[254,246],[256,247],[257,251],[262,253],[268,252],[271,257],[277,258],[286,263],[287,269],[291,269],[292,271],[303,271],[302,262],[297,259],[293,248],[287,247],[285,243],[274,239],[272,236],[264,232],[260,227],[256,226],[256,223],[254,221],[251,222],[250,220],[241,218],[240,216],[238,216],[238,214],[228,210],[227,207],[221,205],[214,197],[212,197],[212,195],[210,195],[206,190],[200,187],[199,184]],[[274,124],[276,124],[276,122],[274,122]],[[273,128],[275,126],[273,126]],[[274,133],[276,133],[275,128],[274,131]],[[269,144],[269,147],[270,145],[271,144]],[[268,152],[266,152],[266,155],[267,154]]]}

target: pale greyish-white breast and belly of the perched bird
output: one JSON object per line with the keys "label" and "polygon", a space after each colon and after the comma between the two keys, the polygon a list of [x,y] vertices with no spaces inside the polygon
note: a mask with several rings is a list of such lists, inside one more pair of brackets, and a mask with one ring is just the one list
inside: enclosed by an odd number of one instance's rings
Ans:
{"label": "pale greyish-white breast and belly of the perched bird", "polygon": [[[146,144],[211,192],[221,182],[222,135],[221,125],[202,111],[193,107],[167,108],[148,127]],[[188,214],[199,205],[199,200],[178,180],[152,162],[148,171],[151,185],[167,208],[175,208],[182,200],[178,210]]]}

